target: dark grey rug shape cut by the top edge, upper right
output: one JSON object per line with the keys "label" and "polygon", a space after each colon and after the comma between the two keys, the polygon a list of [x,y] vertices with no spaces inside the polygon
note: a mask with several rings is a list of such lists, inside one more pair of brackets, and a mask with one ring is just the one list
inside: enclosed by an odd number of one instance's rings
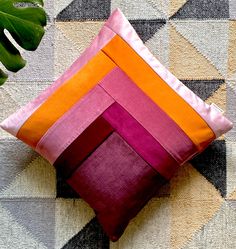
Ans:
{"label": "dark grey rug shape cut by the top edge, upper right", "polygon": [[188,0],[170,19],[229,18],[228,0]]}

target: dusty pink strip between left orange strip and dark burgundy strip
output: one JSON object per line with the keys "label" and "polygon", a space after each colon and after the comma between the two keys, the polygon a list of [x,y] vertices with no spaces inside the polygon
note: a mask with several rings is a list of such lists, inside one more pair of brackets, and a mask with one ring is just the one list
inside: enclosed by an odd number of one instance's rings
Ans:
{"label": "dusty pink strip between left orange strip and dark burgundy strip", "polygon": [[37,144],[36,151],[53,164],[112,103],[113,98],[97,85],[48,129]]}

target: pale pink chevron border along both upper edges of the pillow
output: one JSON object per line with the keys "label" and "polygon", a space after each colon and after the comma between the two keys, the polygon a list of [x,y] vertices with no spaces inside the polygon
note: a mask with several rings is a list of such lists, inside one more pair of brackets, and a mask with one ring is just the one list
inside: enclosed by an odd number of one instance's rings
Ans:
{"label": "pale pink chevron border along both upper edges of the pillow", "polygon": [[230,130],[233,126],[217,109],[206,104],[173,74],[171,74],[143,44],[137,33],[119,9],[113,11],[105,26],[93,40],[89,48],[73,63],[73,65],[51,86],[49,86],[35,100],[22,107],[17,113],[1,123],[1,127],[16,136],[20,127],[37,110],[37,108],[60,87],[75,72],[80,70],[101,48],[103,48],[116,34],[120,35],[149,65],[160,75],[196,112],[208,123],[216,137]]}

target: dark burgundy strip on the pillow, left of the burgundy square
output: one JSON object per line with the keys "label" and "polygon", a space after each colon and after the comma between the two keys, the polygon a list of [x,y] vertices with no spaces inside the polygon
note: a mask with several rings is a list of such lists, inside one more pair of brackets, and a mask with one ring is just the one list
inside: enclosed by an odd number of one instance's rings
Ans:
{"label": "dark burgundy strip on the pillow, left of the burgundy square", "polygon": [[69,177],[78,165],[112,132],[113,128],[110,124],[103,117],[98,117],[64,150],[54,166],[65,178]]}

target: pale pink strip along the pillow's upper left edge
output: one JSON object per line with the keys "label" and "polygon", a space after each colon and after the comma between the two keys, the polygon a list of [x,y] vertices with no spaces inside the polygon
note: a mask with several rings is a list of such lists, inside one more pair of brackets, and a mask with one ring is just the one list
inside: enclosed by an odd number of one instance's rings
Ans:
{"label": "pale pink strip along the pillow's upper left edge", "polygon": [[57,79],[52,85],[47,87],[36,99],[23,106],[17,113],[12,114],[1,123],[1,127],[16,136],[24,122],[36,111],[40,105],[63,83],[79,71],[87,62],[97,54],[113,37],[115,33],[111,29],[103,26],[99,34],[92,41],[91,45],[82,53],[82,55],[71,65],[65,73]]}

